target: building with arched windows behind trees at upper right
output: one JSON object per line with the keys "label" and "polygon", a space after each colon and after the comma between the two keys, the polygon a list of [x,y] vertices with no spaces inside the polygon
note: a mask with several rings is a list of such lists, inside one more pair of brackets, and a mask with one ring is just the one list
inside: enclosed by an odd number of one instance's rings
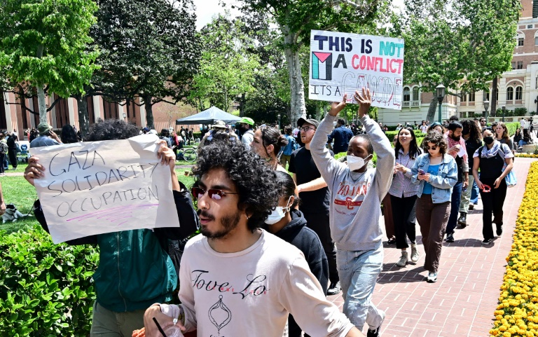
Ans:
{"label": "building with arched windows behind trees at upper right", "polygon": [[[513,50],[512,69],[499,77],[497,108],[506,110],[526,108],[527,114],[538,111],[538,0],[521,0],[522,11],[518,22],[516,48]],[[405,67],[405,64],[404,64]],[[401,112],[379,109],[378,119],[387,125],[413,123],[425,120],[432,101],[432,92],[421,92],[418,85],[404,85]],[[447,95],[442,104],[443,120],[457,115],[460,118],[482,114],[483,101],[490,101],[489,92],[473,92],[463,97]],[[437,120],[437,114],[436,118]]]}

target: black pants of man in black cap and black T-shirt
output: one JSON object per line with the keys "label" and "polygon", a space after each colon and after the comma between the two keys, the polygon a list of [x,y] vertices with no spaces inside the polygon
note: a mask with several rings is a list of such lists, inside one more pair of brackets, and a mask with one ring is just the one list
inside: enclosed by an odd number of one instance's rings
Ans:
{"label": "black pants of man in black cap and black T-shirt", "polygon": [[315,231],[322,242],[323,250],[329,262],[329,281],[336,283],[340,281],[338,268],[336,268],[336,246],[331,239],[331,228],[329,227],[329,209],[324,212],[303,212],[306,219],[306,226]]}

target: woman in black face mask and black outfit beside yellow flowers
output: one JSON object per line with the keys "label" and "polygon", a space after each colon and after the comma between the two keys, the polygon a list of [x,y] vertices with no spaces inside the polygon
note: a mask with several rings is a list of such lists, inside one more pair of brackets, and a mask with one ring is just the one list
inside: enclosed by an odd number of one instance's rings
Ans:
{"label": "woman in black face mask and black outfit beside yellow flowers", "polygon": [[[504,177],[512,170],[513,153],[507,144],[495,140],[493,132],[484,130],[484,146],[474,153],[473,175],[480,188],[482,198],[482,245],[490,245],[493,240],[493,225],[497,226],[497,236],[502,235],[502,207],[506,198],[506,181]],[[504,166],[506,165],[506,167]],[[480,177],[478,177],[480,169]],[[503,170],[504,169],[504,170]],[[495,216],[495,219],[491,219]]]}

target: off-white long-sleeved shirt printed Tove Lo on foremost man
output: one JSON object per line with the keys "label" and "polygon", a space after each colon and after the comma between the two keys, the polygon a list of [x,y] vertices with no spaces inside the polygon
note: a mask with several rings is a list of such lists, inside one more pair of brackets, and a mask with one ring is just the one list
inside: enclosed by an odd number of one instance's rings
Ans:
{"label": "off-white long-sleeved shirt printed Tove Lo on foremost man", "polygon": [[[345,336],[353,324],[326,300],[303,253],[262,231],[251,247],[215,252],[207,238],[188,241],[179,270],[187,331],[198,336],[282,337],[289,312],[310,336]],[[176,305],[161,305],[170,317]]]}

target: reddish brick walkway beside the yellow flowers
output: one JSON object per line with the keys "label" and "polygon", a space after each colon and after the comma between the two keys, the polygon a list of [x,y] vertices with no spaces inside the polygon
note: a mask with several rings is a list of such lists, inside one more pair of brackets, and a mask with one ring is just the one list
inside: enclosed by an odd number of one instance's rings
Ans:
{"label": "reddish brick walkway beside the yellow flowers", "polygon": [[[420,260],[416,265],[397,267],[399,249],[385,245],[383,270],[373,296],[373,303],[387,313],[380,336],[489,336],[506,268],[505,259],[511,249],[518,208],[533,160],[516,158],[514,170],[518,185],[506,193],[502,238],[497,238],[492,245],[481,245],[482,205],[479,200],[467,216],[467,227],[457,228],[455,242],[444,244],[436,283],[425,282],[427,271],[422,268],[424,249],[418,225]],[[342,309],[341,294],[329,298]],[[364,332],[366,329],[365,326]]]}

